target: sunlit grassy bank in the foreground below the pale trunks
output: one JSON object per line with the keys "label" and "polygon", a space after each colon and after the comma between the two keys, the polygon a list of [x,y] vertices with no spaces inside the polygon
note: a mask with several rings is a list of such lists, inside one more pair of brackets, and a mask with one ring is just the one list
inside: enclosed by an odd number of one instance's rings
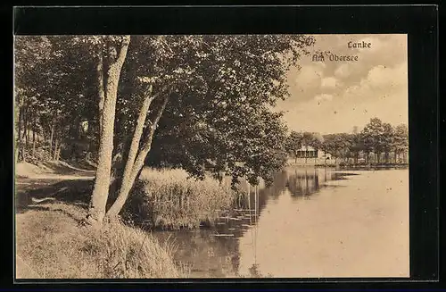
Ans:
{"label": "sunlit grassy bank in the foreground below the pale trunks", "polygon": [[96,230],[80,227],[85,210],[40,204],[16,215],[17,278],[185,277],[172,250],[120,222]]}

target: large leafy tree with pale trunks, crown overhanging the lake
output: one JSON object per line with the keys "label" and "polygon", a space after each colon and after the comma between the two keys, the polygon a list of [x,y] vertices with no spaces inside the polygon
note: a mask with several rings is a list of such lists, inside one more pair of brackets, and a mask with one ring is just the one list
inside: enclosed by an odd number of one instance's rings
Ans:
{"label": "large leafy tree with pale trunks, crown overhanging the lake", "polygon": [[[164,137],[187,142],[177,152],[182,166],[197,177],[206,170],[224,171],[234,182],[247,176],[255,183],[283,165],[285,127],[270,107],[288,96],[286,72],[308,53],[313,38],[78,38],[83,41],[97,63],[100,121],[90,222],[100,225],[105,216],[120,213],[158,129]],[[169,127],[170,121],[178,127]],[[106,212],[111,180],[117,182],[116,199]]]}

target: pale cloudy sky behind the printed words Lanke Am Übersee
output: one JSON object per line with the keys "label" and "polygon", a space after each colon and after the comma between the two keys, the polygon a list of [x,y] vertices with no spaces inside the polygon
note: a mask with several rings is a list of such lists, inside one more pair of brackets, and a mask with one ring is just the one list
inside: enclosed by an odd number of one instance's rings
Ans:
{"label": "pale cloudy sky behind the printed words Lanke Am \u00dcbersee", "polygon": [[[392,125],[409,123],[407,36],[315,35],[301,69],[288,73],[289,96],[277,102],[290,130],[321,134],[362,129],[377,117]],[[370,47],[348,47],[349,42]],[[313,53],[358,56],[358,61],[313,61]]]}

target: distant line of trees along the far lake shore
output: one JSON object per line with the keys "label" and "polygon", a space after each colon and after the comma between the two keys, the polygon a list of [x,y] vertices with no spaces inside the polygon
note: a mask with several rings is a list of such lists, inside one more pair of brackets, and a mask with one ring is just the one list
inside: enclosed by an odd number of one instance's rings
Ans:
{"label": "distant line of trees along the far lake shore", "polygon": [[[352,133],[320,135],[311,132],[292,131],[286,139],[286,150],[294,160],[298,151],[311,146],[322,150],[343,162],[359,164],[359,157],[364,163],[398,163],[399,158],[407,162],[409,151],[409,129],[406,124],[392,126],[390,123],[372,118],[361,131],[355,127]],[[305,163],[306,163],[305,158]],[[315,158],[316,159],[316,158]]]}

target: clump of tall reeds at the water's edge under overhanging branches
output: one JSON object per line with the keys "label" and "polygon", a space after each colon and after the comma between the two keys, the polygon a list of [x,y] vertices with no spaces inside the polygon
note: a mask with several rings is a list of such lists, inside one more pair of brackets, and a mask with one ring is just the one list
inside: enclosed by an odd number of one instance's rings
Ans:
{"label": "clump of tall reeds at the water's edge under overhanging branches", "polygon": [[147,228],[197,228],[212,224],[219,210],[234,206],[237,193],[216,179],[195,180],[182,170],[145,169],[125,206],[136,224]]}

